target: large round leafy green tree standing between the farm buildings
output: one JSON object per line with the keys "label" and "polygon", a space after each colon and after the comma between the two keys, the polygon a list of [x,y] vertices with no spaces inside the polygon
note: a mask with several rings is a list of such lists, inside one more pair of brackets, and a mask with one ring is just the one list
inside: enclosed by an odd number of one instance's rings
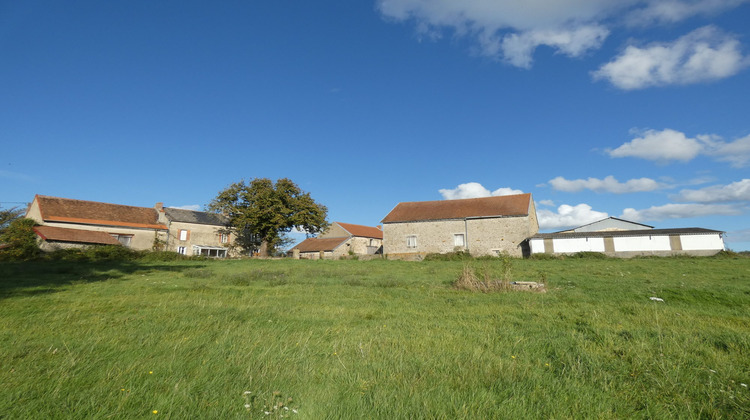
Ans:
{"label": "large round leafy green tree standing between the farm buildings", "polygon": [[273,252],[284,232],[296,228],[315,234],[328,226],[328,209],[287,178],[236,182],[219,192],[208,209],[227,217],[239,246],[257,249],[262,257]]}

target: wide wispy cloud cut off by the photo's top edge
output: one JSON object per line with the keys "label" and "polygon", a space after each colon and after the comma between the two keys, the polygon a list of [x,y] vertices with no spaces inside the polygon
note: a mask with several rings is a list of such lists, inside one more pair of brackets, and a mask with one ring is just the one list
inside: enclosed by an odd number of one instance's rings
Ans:
{"label": "wide wispy cloud cut off by the photo's top edge", "polygon": [[[528,68],[539,46],[570,57],[598,49],[610,33],[608,25],[613,23],[671,23],[725,11],[746,1],[379,0],[377,8],[387,19],[414,22],[420,36],[437,39],[447,29],[458,37],[474,39],[485,56]],[[706,66],[706,59],[700,55],[695,61]]]}

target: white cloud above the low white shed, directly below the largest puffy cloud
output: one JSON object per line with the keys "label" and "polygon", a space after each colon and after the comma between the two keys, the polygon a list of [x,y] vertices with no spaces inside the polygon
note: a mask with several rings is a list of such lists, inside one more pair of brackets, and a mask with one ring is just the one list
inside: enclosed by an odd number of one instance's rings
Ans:
{"label": "white cloud above the low white shed, directly below the largest puffy cloud", "polygon": [[688,137],[680,131],[646,130],[640,137],[622,144],[614,150],[607,150],[614,158],[636,157],[660,162],[679,160],[690,161],[699,155],[729,162],[734,167],[742,167],[750,162],[750,135],[727,142],[716,134]]}

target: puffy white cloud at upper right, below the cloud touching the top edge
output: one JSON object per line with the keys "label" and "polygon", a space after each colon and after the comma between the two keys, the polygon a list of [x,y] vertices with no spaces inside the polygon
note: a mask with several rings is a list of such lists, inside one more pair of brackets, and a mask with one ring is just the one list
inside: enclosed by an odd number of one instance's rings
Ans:
{"label": "puffy white cloud at upper right, below the cloud touching the top edge", "polygon": [[593,76],[632,90],[723,79],[737,74],[748,63],[735,37],[706,26],[672,43],[628,46]]}

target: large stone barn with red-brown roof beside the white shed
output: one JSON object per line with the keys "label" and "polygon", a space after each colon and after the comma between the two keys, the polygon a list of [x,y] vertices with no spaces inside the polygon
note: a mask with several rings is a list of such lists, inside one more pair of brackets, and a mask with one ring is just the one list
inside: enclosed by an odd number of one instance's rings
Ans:
{"label": "large stone barn with red-brown roof beside the white shed", "polygon": [[404,259],[453,251],[521,257],[539,231],[531,194],[404,202],[382,223],[383,253]]}

